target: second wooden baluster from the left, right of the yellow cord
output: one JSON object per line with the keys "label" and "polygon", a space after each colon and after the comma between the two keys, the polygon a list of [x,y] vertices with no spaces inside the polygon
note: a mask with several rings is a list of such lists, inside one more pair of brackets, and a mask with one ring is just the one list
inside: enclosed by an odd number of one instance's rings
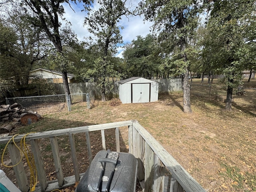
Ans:
{"label": "second wooden baluster from the left, right of the yellow cord", "polygon": [[39,146],[39,140],[32,139],[30,140],[30,144],[31,144],[32,153],[35,159],[36,170],[37,170],[38,180],[40,182],[41,191],[45,191],[48,183],[46,180],[44,161],[43,161],[42,153]]}

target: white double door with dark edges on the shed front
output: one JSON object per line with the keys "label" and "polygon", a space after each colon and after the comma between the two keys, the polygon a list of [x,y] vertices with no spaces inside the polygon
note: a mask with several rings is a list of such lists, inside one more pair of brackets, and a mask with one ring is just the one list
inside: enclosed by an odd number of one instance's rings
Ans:
{"label": "white double door with dark edges on the shed front", "polygon": [[132,102],[149,102],[150,84],[132,84]]}

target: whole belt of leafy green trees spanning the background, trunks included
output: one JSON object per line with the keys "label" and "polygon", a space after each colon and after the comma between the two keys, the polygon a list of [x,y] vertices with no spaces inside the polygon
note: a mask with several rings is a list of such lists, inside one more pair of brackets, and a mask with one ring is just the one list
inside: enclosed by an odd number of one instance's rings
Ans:
{"label": "whole belt of leafy green trees spanning the background, trunks included", "polygon": [[[71,7],[73,2],[83,2],[84,24],[92,34],[86,42],[78,42],[64,18],[63,4]],[[89,0],[22,0],[13,4],[7,0],[10,6],[1,7],[0,19],[1,78],[27,84],[30,70],[44,66],[63,73],[69,94],[68,71],[76,74],[77,81],[98,82],[104,101],[109,77],[178,76],[182,78],[183,110],[190,113],[189,74],[209,74],[209,83],[211,74],[223,74],[226,109],[230,110],[242,71],[256,70],[254,0],[141,1],[137,11],[153,22],[152,32],[125,42],[123,59],[115,57],[123,45],[120,20],[132,14],[131,10],[126,0],[96,2],[97,8]],[[204,16],[206,23],[200,23]]]}

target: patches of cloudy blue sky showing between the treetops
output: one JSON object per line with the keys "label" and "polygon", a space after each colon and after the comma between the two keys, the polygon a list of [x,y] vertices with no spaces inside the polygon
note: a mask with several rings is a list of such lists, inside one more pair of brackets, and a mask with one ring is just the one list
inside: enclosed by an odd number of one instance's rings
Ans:
{"label": "patches of cloudy blue sky showing between the treetops", "polygon": [[[128,1],[127,6],[130,6],[131,3],[133,6],[138,5],[139,0],[130,0]],[[70,3],[72,9],[68,4],[63,4],[65,8],[64,18],[71,22],[72,29],[77,34],[78,40],[83,41],[84,38],[92,36],[87,30],[87,26],[84,26],[84,17],[86,16],[86,12],[81,12],[82,4],[74,4]],[[93,9],[98,9],[99,5],[97,2],[94,2],[92,5]],[[150,27],[152,26],[151,22],[143,21],[143,18],[140,16],[133,16],[126,18],[123,16],[120,20],[120,26],[123,26],[124,29],[121,30],[121,35],[123,37],[124,43],[131,42],[133,39],[137,39],[136,36],[146,37],[147,34],[150,33]],[[116,56],[122,57],[122,51],[124,49],[119,47],[118,54]]]}

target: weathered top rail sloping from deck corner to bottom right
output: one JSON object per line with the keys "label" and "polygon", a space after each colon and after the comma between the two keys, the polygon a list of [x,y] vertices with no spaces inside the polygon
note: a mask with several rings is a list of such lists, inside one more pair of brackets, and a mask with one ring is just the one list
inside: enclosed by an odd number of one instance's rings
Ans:
{"label": "weathered top rail sloping from deck corner to bottom right", "polygon": [[194,178],[149,134],[138,122],[133,122],[134,128],[144,138],[162,163],[170,170],[174,178],[186,192],[206,192]]}

